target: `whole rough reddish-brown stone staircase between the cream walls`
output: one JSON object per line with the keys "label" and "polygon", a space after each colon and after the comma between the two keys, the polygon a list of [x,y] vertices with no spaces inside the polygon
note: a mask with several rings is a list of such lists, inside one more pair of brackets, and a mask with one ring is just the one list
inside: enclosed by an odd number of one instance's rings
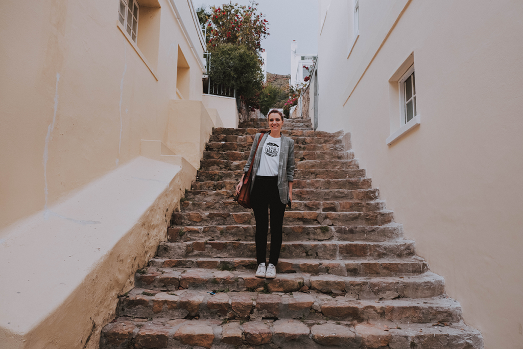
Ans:
{"label": "whole rough reddish-brown stone staircase between the cream walls", "polygon": [[256,278],[254,215],[233,195],[267,123],[240,127],[213,130],[167,241],[121,296],[100,348],[483,348],[342,134],[310,120],[285,121],[294,201],[277,278]]}

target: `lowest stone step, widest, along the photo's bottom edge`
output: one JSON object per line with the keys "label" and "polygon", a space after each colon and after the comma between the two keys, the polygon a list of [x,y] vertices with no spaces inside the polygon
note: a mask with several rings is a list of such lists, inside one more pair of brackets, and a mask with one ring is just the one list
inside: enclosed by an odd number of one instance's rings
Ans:
{"label": "lowest stone step, widest, along the photo's bottom edge", "polygon": [[147,348],[483,349],[480,331],[463,322],[441,325],[411,323],[400,327],[394,321],[358,324],[293,319],[145,321],[121,317],[102,330],[100,349],[127,348],[134,343]]}

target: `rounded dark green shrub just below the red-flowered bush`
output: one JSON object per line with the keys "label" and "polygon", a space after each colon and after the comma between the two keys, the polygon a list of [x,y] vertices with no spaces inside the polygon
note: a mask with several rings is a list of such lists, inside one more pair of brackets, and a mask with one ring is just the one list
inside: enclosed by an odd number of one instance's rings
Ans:
{"label": "rounded dark green shrub just below the red-flowered bush", "polygon": [[230,86],[245,98],[255,97],[263,86],[258,57],[243,45],[222,43],[215,47],[209,75],[211,81]]}

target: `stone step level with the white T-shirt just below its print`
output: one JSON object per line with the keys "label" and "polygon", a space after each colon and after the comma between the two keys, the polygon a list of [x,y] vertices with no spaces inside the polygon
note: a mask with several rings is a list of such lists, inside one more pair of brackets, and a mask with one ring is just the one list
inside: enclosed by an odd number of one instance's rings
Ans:
{"label": "stone step level with the white T-shirt just below its print", "polygon": [[[357,160],[304,160],[294,163],[295,170],[356,170]],[[247,160],[202,160],[200,170],[203,171],[242,171]]]}

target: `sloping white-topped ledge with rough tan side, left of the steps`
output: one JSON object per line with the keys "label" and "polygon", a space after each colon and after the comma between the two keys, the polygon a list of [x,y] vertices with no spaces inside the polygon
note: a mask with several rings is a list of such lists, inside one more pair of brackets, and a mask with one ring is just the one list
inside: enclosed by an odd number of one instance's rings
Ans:
{"label": "sloping white-topped ledge with rough tan side, left of the steps", "polygon": [[161,142],[146,146],[167,162],[138,156],[2,232],[0,347],[98,347],[196,176],[183,157],[161,155]]}

